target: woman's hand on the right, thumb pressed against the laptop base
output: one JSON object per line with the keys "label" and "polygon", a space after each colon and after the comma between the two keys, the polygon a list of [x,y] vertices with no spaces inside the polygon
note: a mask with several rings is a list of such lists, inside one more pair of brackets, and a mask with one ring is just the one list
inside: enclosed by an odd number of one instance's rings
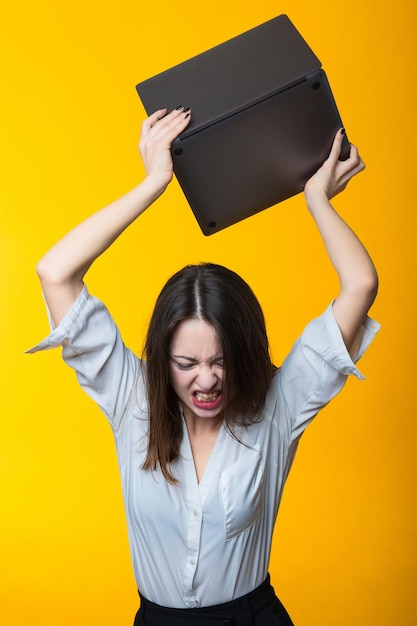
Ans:
{"label": "woman's hand on the right, thumb pressed against the laptop base", "polygon": [[356,146],[351,144],[349,158],[340,161],[344,130],[340,129],[334,138],[332,149],[319,170],[306,182],[304,193],[308,200],[316,191],[324,192],[330,200],[343,191],[351,178],[365,169]]}

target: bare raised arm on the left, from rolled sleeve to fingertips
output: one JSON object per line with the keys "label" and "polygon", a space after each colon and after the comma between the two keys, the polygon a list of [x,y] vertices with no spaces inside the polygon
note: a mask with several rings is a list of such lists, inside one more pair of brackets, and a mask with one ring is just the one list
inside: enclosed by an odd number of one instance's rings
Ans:
{"label": "bare raised arm on the left, from rolled sleeve to fingertips", "polygon": [[186,128],[190,115],[179,107],[167,114],[156,111],[142,125],[140,151],[145,164],[143,182],[61,239],[37,265],[43,293],[55,324],[76,300],[83,278],[119,235],[165,190],[173,176],[170,147]]}

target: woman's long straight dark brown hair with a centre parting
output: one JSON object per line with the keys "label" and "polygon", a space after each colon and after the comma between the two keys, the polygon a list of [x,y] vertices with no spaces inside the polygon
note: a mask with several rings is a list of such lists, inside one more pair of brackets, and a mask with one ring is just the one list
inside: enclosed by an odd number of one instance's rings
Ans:
{"label": "woman's long straight dark brown hair with a centre parting", "polygon": [[149,442],[145,469],[161,468],[175,483],[170,463],[178,458],[182,417],[171,386],[169,350],[179,324],[199,318],[211,324],[222,348],[223,420],[237,424],[259,419],[275,371],[265,320],[249,285],[235,272],[214,263],[188,265],[163,287],[150,321],[144,357],[149,405]]}

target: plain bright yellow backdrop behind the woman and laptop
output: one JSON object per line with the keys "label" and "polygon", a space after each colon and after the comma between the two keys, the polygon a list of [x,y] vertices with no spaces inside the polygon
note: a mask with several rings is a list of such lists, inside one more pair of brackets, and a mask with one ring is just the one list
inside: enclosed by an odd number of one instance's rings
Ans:
{"label": "plain bright yellow backdrop behind the woman and laptop", "polygon": [[[135,84],[280,13],[321,59],[367,163],[336,205],[379,269],[372,313],[383,329],[361,363],[367,381],[349,381],[303,437],[272,579],[297,626],[417,624],[414,2],[8,0],[0,18],[5,626],[123,626],[137,608],[110,429],[58,351],[23,355],[47,332],[36,261],[141,179]],[[176,182],[88,284],[140,351],[163,282],[199,260],[253,286],[278,363],[337,290],[301,196],[204,238]]]}

